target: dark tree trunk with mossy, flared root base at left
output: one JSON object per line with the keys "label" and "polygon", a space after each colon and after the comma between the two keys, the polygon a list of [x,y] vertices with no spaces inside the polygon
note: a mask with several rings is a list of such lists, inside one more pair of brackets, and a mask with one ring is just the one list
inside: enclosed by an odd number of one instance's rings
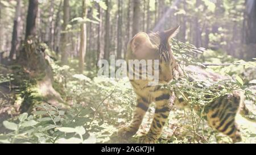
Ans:
{"label": "dark tree trunk with mossy, flared root base at left", "polygon": [[[28,5],[27,14],[27,27],[26,27],[26,42],[24,48],[20,53],[19,62],[24,70],[27,70],[32,79],[35,79],[35,88],[38,91],[38,96],[30,99],[24,99],[21,112],[30,112],[32,106],[38,99],[42,102],[51,104],[59,104],[63,102],[60,94],[52,87],[53,74],[51,66],[49,66],[45,55],[44,49],[40,47],[36,41],[36,16],[38,13],[38,0],[30,0]],[[25,97],[29,98],[29,97]],[[36,99],[35,99],[36,98]],[[41,101],[39,102],[41,103]]]}

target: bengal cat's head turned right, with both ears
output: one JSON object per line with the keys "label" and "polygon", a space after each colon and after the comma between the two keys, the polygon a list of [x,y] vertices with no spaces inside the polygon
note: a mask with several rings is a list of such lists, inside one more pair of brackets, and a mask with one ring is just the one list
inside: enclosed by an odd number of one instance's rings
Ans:
{"label": "bengal cat's head turned right, with both ears", "polygon": [[139,32],[129,44],[127,59],[159,60],[160,81],[171,81],[175,59],[169,41],[177,35],[179,28],[150,34]]}

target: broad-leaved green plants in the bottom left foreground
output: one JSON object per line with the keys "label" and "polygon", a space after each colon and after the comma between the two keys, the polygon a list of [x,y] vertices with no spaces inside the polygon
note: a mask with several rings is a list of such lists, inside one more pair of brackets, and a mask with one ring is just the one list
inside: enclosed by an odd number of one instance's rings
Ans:
{"label": "broad-leaved green plants in the bottom left foreground", "polygon": [[[5,121],[9,129],[6,135],[0,135],[1,143],[96,143],[95,136],[90,135],[88,115],[92,110],[81,106],[63,111],[49,104],[41,104],[33,115],[27,113],[14,118],[13,122]],[[81,111],[82,109],[82,111]],[[85,127],[83,127],[83,125]]]}

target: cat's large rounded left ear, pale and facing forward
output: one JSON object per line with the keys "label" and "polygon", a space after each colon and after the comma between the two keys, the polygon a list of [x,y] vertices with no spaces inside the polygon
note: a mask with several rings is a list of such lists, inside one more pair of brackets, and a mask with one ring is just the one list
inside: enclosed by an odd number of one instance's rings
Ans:
{"label": "cat's large rounded left ear, pale and facing forward", "polygon": [[131,41],[131,51],[137,57],[143,57],[149,52],[149,49],[154,48],[147,33],[139,32]]}

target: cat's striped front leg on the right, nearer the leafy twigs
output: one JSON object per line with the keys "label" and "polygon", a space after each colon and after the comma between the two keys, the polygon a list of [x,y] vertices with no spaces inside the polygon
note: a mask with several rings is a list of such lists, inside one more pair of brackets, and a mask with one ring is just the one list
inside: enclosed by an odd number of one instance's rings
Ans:
{"label": "cat's striped front leg on the right, nearer the leafy twigs", "polygon": [[[155,143],[159,139],[164,124],[167,122],[174,100],[171,101],[172,96],[169,91],[159,91],[155,97],[155,115],[152,121],[150,131],[140,138],[141,143]],[[173,96],[174,97],[174,96]],[[171,102],[170,102],[171,101]]]}

